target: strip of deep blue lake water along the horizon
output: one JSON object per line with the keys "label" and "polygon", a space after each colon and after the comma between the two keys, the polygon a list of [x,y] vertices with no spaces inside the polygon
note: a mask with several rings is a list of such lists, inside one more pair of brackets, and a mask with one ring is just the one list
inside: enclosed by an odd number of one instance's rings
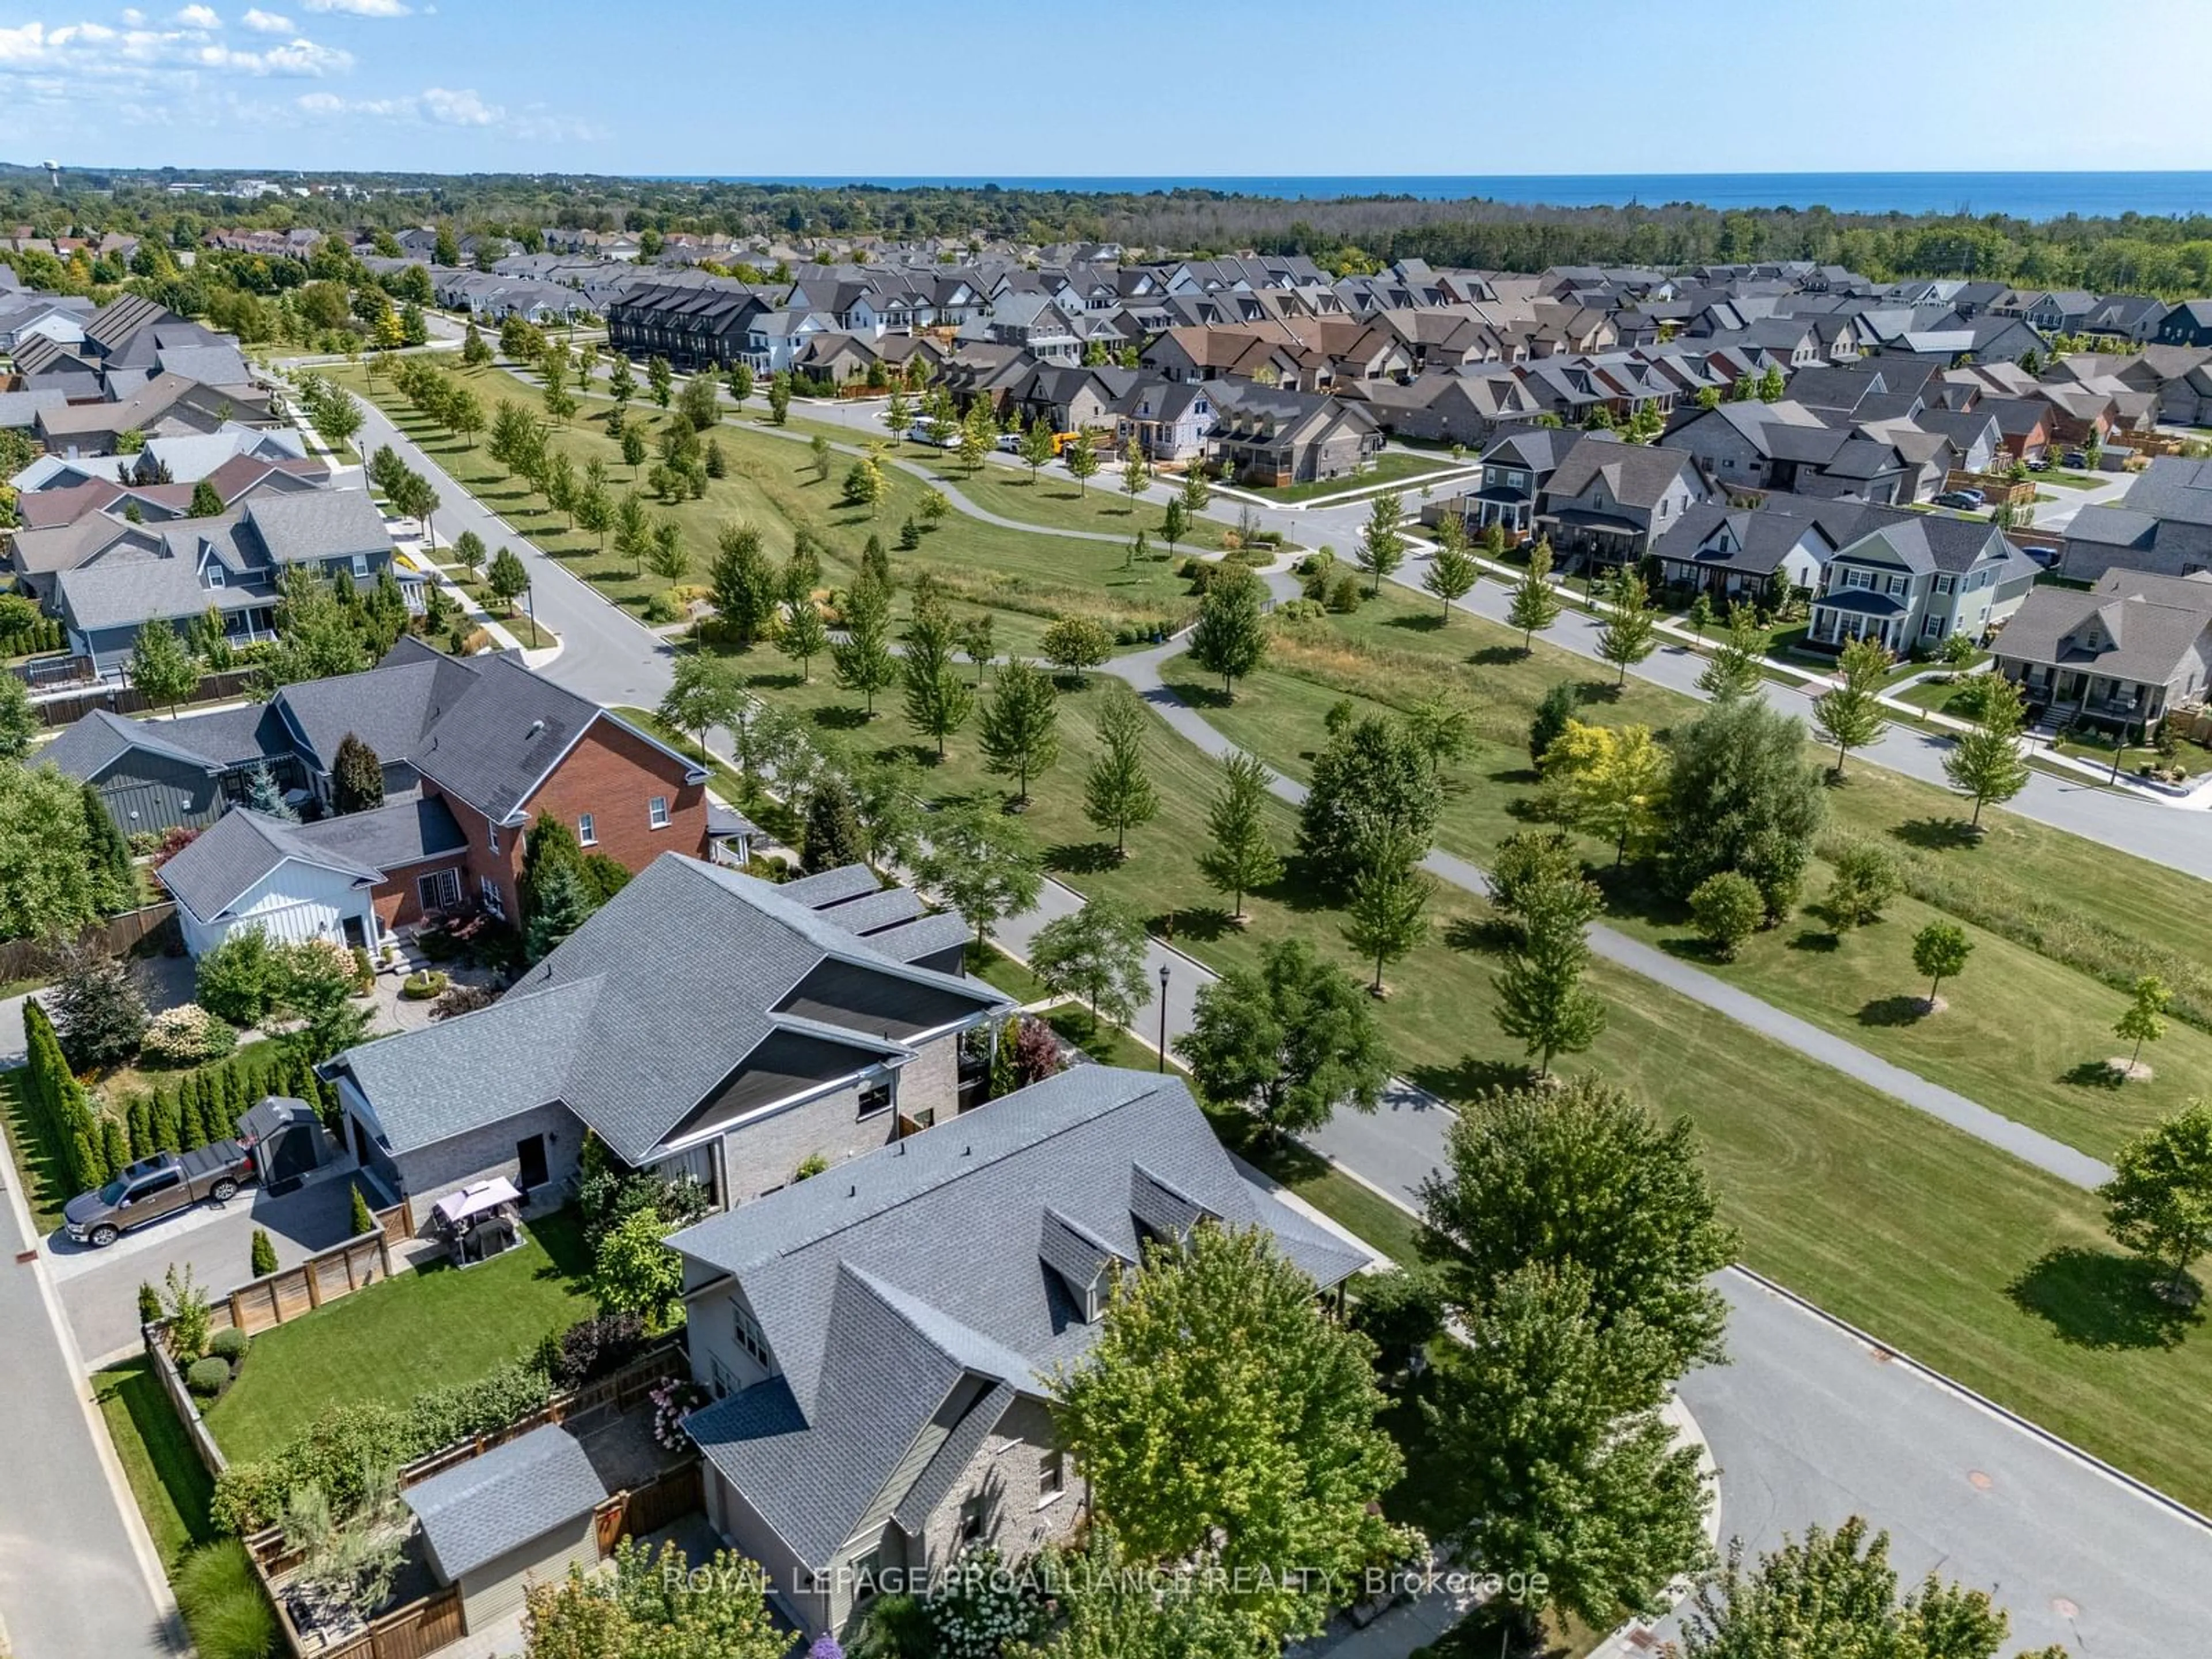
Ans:
{"label": "strip of deep blue lake water along the horizon", "polygon": [[1035,177],[885,175],[874,179],[781,177],[765,184],[880,184],[887,188],[998,184],[1006,190],[1150,192],[1225,190],[1252,197],[1416,197],[1422,201],[1544,204],[1595,208],[1697,201],[1710,208],[1832,208],[1836,212],[2002,212],[2017,219],[2106,217],[2139,212],[2177,217],[2212,212],[2212,173],[1586,173],[1586,175],[1438,175],[1438,177]]}

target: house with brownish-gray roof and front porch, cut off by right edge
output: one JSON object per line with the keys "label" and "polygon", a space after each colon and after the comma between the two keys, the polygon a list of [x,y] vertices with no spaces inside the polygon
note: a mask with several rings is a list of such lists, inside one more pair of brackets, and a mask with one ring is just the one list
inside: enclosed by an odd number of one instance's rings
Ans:
{"label": "house with brownish-gray roof and front porch, cut off by right edge", "polygon": [[2088,593],[2035,588],[1991,650],[2057,723],[2148,737],[2212,684],[2212,573],[2108,571]]}

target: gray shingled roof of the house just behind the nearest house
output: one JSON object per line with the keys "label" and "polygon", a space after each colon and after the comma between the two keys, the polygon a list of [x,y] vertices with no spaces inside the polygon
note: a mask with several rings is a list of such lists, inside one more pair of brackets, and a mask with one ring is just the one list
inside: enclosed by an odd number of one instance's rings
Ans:
{"label": "gray shingled roof of the house just behind the nearest house", "polygon": [[[491,1009],[334,1064],[394,1150],[560,1099],[641,1164],[776,1033],[900,1053],[902,1035],[1006,1006],[982,980],[907,967],[787,894],[661,854]],[[854,980],[867,1013],[838,1020]]]}

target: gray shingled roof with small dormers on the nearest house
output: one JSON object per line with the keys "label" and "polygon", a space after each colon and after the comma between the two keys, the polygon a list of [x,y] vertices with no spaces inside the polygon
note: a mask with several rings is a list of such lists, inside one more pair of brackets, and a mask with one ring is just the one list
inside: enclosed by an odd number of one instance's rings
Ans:
{"label": "gray shingled roof with small dormers on the nearest house", "polygon": [[885,1506],[918,1522],[1011,1398],[1088,1352],[1064,1274],[1137,1261],[1139,1203],[1170,1232],[1265,1225],[1323,1287],[1365,1265],[1237,1172],[1181,1079],[1075,1066],[679,1232],[737,1276],[781,1367],[692,1413],[692,1438],[810,1564]]}

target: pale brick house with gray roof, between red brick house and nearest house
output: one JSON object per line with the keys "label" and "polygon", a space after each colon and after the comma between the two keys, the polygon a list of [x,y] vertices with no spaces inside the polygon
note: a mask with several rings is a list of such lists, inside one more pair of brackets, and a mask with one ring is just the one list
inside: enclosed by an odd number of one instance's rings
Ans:
{"label": "pale brick house with gray roof, between red brick house and nearest house", "polygon": [[418,1217],[493,1175],[560,1194],[586,1133],[748,1203],[960,1110],[962,1037],[1011,1006],[962,973],[967,936],[865,867],[776,887],[670,852],[493,1006],[327,1075],[347,1146]]}

